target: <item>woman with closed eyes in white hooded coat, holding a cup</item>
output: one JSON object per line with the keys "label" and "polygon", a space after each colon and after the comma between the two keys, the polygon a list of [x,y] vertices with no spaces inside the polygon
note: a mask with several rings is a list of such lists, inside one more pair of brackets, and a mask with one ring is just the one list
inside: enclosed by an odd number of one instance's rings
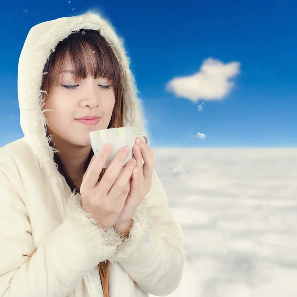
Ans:
{"label": "woman with closed eyes in white hooded coat, holding a cup", "polygon": [[0,297],[176,290],[182,232],[151,148],[137,138],[130,162],[120,151],[104,169],[109,152],[94,157],[90,144],[93,130],[144,130],[136,94],[123,42],[98,14],[31,28],[18,68],[24,137],[0,149]]}

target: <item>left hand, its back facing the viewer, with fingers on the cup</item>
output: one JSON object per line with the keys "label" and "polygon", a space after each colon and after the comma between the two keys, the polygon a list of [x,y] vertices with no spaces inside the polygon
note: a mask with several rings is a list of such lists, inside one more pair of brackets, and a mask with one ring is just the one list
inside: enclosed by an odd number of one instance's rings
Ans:
{"label": "left hand, its back facing the viewer, with fingers on the cup", "polygon": [[102,229],[113,226],[119,217],[130,189],[127,183],[136,165],[135,159],[130,159],[119,175],[130,152],[130,148],[125,146],[118,151],[98,183],[99,175],[111,152],[108,147],[111,148],[109,144],[105,145],[97,156],[93,156],[80,188],[82,207]]}

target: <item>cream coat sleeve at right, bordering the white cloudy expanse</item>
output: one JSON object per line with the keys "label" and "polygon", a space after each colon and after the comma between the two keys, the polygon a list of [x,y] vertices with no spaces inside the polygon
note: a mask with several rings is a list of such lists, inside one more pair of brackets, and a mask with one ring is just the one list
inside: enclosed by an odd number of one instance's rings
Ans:
{"label": "cream coat sleeve at right, bordering the white cloudy expanse", "polygon": [[167,296],[182,278],[184,251],[182,229],[168,207],[168,199],[154,169],[152,187],[138,205],[133,226],[113,259],[144,291]]}

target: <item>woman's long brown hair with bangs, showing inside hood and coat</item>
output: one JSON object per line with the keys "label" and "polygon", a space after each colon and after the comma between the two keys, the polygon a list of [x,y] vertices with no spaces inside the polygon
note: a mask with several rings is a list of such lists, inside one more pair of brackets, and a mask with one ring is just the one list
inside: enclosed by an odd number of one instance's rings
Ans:
{"label": "woman's long brown hair with bangs, showing inside hood and coat", "polygon": [[[64,70],[66,60],[69,59],[74,67],[74,79],[79,81],[88,75],[94,78],[104,77],[111,81],[115,94],[115,106],[111,120],[107,128],[117,128],[124,126],[123,119],[123,97],[121,85],[121,71],[117,58],[107,41],[96,30],[78,30],[72,32],[64,40],[60,41],[51,52],[43,72],[47,72],[42,79],[41,90],[49,95],[53,86],[59,82],[59,72]],[[48,130],[48,129],[47,129]],[[47,131],[47,136],[49,136]],[[50,142],[50,146],[54,145]],[[85,173],[94,153],[92,148],[88,156],[80,166],[80,173]],[[58,154],[54,154],[54,162],[58,165],[58,170],[62,174],[72,191],[79,193],[79,189],[74,185],[64,164]],[[106,169],[103,168],[99,175],[100,182]],[[100,262],[98,264],[99,275],[103,288],[104,297],[109,297],[108,268],[110,262]]]}

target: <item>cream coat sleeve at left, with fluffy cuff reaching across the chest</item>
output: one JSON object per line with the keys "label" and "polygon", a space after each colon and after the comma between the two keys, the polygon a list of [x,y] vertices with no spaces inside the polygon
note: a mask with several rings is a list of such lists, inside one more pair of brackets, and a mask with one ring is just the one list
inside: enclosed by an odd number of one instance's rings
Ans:
{"label": "cream coat sleeve at left, with fluffy cuff reaching across the chest", "polygon": [[99,229],[72,193],[66,219],[36,250],[25,199],[12,180],[21,183],[0,163],[0,297],[65,297],[114,254],[118,234]]}

